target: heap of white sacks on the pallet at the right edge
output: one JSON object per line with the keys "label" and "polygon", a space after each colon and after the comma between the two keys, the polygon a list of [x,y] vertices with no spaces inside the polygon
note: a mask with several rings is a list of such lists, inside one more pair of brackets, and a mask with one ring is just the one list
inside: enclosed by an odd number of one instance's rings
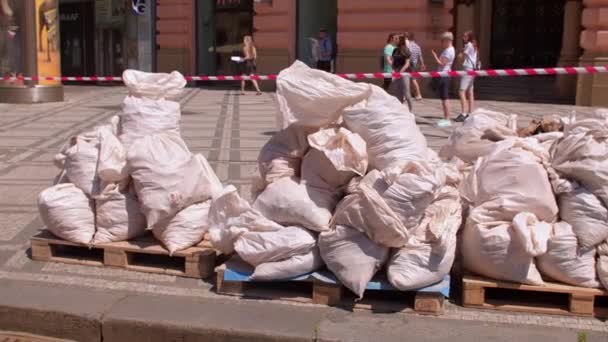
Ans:
{"label": "heap of white sacks on the pallet at the right edge", "polygon": [[464,161],[465,268],[608,288],[608,111],[563,121],[517,138],[513,117],[479,110],[452,134],[441,155]]}

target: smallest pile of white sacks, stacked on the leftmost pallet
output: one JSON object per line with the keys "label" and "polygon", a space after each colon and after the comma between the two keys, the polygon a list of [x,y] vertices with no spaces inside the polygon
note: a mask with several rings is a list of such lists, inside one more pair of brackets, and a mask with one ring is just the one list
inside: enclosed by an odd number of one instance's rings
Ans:
{"label": "smallest pile of white sacks, stacked on the leftmost pallet", "polygon": [[151,230],[176,251],[198,244],[209,229],[211,198],[222,185],[207,160],[180,136],[178,72],[125,71],[129,96],[109,124],[70,139],[55,157],[62,170],[38,208],[65,240],[96,245]]}

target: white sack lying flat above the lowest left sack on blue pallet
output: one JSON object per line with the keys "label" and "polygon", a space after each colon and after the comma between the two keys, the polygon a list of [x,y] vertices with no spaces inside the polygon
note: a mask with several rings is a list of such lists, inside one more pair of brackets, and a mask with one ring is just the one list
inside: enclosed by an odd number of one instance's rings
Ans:
{"label": "white sack lying flat above the lowest left sack on blue pallet", "polygon": [[245,232],[235,241],[234,250],[245,262],[257,267],[309,253],[316,244],[317,237],[313,232],[300,227],[285,227],[275,231]]}

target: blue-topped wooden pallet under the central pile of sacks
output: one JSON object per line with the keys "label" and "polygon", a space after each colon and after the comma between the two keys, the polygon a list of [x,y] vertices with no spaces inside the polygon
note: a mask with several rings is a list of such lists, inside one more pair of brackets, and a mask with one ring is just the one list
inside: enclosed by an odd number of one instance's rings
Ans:
{"label": "blue-topped wooden pallet under the central pile of sacks", "polygon": [[262,282],[250,279],[253,269],[237,259],[216,268],[217,292],[245,298],[261,298],[313,303],[375,312],[399,312],[413,308],[427,315],[441,315],[449,296],[449,277],[434,286],[417,291],[398,291],[385,276],[368,284],[365,297],[358,301],[331,272],[324,270],[285,281]]}

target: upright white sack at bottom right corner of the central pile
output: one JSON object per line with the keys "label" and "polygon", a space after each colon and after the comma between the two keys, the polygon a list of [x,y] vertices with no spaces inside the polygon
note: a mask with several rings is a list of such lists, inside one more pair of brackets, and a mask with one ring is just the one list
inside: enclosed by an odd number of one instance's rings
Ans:
{"label": "upright white sack at bottom right corner of the central pile", "polygon": [[458,190],[444,187],[439,199],[426,208],[422,223],[412,232],[413,237],[389,261],[389,282],[407,291],[441,281],[452,269],[456,234],[461,224]]}

